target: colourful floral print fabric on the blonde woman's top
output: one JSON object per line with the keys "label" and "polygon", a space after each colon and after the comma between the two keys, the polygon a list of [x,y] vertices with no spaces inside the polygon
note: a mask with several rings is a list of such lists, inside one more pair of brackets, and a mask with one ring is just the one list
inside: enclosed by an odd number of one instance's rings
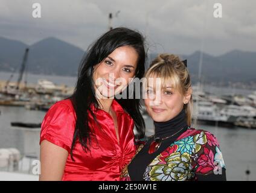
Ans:
{"label": "colourful floral print fabric on the blonde woman's top", "polygon": [[[146,144],[136,142],[136,154]],[[147,166],[143,179],[146,181],[197,180],[197,175],[220,174],[225,168],[219,143],[213,134],[188,127],[173,144],[159,154]],[[126,168],[121,180],[131,180]]]}

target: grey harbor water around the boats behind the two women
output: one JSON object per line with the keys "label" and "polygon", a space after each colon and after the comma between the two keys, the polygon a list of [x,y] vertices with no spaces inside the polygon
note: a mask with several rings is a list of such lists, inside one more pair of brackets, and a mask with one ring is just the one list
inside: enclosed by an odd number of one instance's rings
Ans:
{"label": "grey harbor water around the boats behind the two women", "polygon": [[[7,80],[9,75],[0,72],[0,79]],[[56,84],[67,84],[74,86],[75,77],[51,77],[45,75],[28,75],[28,83],[36,83],[39,78],[46,78]],[[15,76],[14,76],[15,80]],[[214,89],[214,92],[231,92],[250,93],[249,90],[239,89]],[[11,128],[10,122],[42,122],[45,112],[37,110],[27,110],[25,107],[9,107],[0,106],[0,148],[17,148],[24,154],[24,131]],[[146,134],[153,134],[153,121],[149,117],[145,118]],[[225,128],[210,125],[192,125],[195,128],[203,129],[213,133],[222,150],[223,158],[226,165],[227,180],[256,180],[256,129],[248,128]],[[26,139],[26,143],[30,143],[30,139]],[[37,138],[39,146],[39,135]],[[250,171],[246,175],[246,171]]]}

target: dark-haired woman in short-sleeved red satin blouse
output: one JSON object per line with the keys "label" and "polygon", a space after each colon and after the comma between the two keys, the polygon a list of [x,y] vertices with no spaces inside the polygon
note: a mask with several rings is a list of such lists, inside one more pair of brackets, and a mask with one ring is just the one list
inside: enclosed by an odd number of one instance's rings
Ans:
{"label": "dark-haired woman in short-sleeved red satin blouse", "polygon": [[39,180],[120,180],[135,155],[133,127],[143,136],[145,124],[138,99],[115,96],[142,78],[145,57],[143,37],[127,28],[110,30],[91,46],[73,95],[43,119]]}

